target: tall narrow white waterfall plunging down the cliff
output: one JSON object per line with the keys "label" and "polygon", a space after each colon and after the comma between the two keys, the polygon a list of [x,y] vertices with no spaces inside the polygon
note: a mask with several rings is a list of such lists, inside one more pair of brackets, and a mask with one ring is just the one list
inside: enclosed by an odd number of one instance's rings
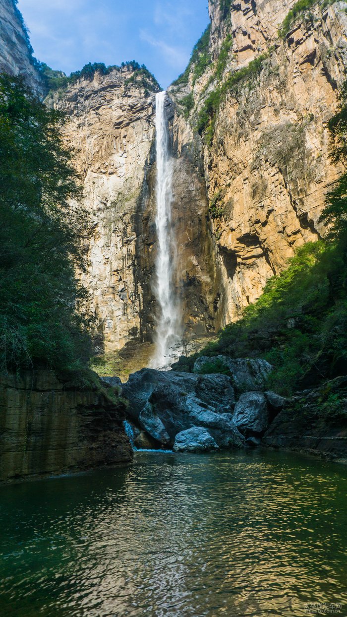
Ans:
{"label": "tall narrow white waterfall plunging down the cliff", "polygon": [[158,248],[155,260],[154,292],[158,302],[158,317],[155,332],[155,354],[150,364],[153,368],[167,368],[169,366],[173,356],[177,355],[181,336],[181,307],[174,281],[176,275],[176,244],[171,221],[173,159],[169,154],[165,96],[165,92],[155,95],[157,153],[155,225]]}

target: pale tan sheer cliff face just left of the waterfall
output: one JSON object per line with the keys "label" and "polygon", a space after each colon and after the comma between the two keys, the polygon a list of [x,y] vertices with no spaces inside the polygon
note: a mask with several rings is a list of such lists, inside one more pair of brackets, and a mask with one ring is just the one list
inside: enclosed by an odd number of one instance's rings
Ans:
{"label": "pale tan sheer cliff face just left of the waterfall", "polygon": [[94,223],[83,282],[106,350],[123,347],[129,333],[141,330],[145,336],[147,326],[142,321],[148,272],[139,264],[152,249],[142,226],[155,105],[153,93],[145,96],[128,81],[131,75],[126,68],[96,73],[51,101],[71,118],[67,137],[76,149],[84,203]]}

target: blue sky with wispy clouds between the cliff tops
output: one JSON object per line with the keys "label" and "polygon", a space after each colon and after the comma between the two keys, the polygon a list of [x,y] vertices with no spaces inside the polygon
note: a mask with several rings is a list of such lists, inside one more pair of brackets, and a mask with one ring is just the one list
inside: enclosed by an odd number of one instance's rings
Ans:
{"label": "blue sky with wispy clouds between the cliff tops", "polygon": [[35,56],[70,74],[88,62],[137,60],[163,88],[208,25],[208,0],[18,0]]}

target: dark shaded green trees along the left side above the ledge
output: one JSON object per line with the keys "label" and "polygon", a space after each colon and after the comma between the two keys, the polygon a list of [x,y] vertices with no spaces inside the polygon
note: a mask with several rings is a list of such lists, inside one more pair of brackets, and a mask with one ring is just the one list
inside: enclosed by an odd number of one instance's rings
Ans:
{"label": "dark shaded green trees along the left side above the ledge", "polygon": [[0,370],[70,369],[89,357],[83,269],[88,215],[64,115],[0,76]]}

